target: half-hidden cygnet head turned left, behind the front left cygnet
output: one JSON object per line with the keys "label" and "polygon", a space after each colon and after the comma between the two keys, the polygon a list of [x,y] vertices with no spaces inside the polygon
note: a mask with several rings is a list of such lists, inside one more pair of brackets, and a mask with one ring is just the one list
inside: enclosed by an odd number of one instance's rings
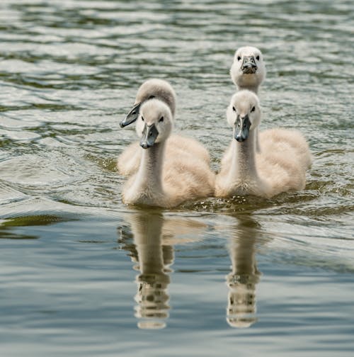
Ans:
{"label": "half-hidden cygnet head turned left, behind the front left cygnet", "polygon": [[153,98],[166,103],[174,117],[176,112],[176,94],[175,91],[173,91],[171,84],[163,79],[148,79],[139,87],[135,98],[135,104],[130,112],[127,113],[125,119],[120,122],[120,128],[124,128],[125,126],[134,123],[139,116],[142,103]]}

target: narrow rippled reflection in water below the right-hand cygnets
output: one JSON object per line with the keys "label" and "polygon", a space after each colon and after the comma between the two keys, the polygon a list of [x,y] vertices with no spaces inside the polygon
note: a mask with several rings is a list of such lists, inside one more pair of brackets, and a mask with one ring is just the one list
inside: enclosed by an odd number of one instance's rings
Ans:
{"label": "narrow rippled reflection in water below the right-hand cygnets", "polygon": [[241,218],[229,244],[232,272],[227,275],[227,322],[232,327],[250,327],[257,321],[256,284],[261,275],[256,265],[257,226],[251,217]]}

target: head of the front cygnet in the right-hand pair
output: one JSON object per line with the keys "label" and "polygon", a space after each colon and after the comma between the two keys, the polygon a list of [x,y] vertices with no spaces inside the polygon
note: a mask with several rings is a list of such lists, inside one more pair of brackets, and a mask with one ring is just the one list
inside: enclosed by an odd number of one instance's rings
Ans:
{"label": "head of the front cygnet in the right-hand pair", "polygon": [[227,122],[234,128],[234,138],[243,142],[261,123],[261,106],[258,97],[251,91],[238,91],[227,107]]}

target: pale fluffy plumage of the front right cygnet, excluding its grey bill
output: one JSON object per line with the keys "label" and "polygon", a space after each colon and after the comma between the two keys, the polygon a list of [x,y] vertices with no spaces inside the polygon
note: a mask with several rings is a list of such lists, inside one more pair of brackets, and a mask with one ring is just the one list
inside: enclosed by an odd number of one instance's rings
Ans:
{"label": "pale fluffy plumage of the front right cygnet, excluding its grey bill", "polygon": [[260,135],[262,152],[256,153],[256,128],[261,121],[257,96],[251,91],[237,92],[227,109],[227,120],[234,130],[236,115],[249,115],[249,137],[243,142],[232,140],[217,175],[216,196],[250,194],[270,198],[281,192],[302,190],[306,169],[311,165],[302,134],[296,130],[266,130]]}

